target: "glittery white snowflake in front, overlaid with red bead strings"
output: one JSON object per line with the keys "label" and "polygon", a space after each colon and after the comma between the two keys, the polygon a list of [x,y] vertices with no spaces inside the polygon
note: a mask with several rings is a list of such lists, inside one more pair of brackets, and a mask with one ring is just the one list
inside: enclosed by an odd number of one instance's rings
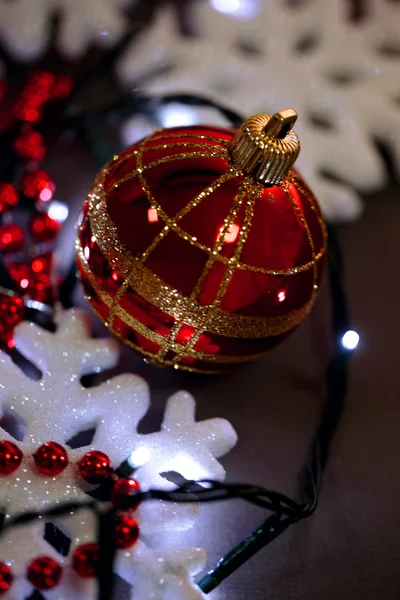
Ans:
{"label": "glittery white snowflake in front, overlaid with red bead strings", "polygon": [[[20,467],[4,476],[0,504],[7,517],[24,509],[54,505],[68,499],[84,499],[77,461],[89,450],[101,450],[118,466],[129,456],[142,464],[135,471],[141,489],[172,489],[161,473],[174,471],[189,479],[222,480],[225,472],[217,458],[236,442],[236,434],[224,419],[196,422],[190,394],[172,396],[161,431],[139,434],[137,426],[149,408],[149,392],[139,377],[123,374],[95,387],[84,388],[81,377],[115,366],[118,345],[114,340],[90,339],[87,323],[77,310],[58,312],[57,330],[51,333],[24,322],[15,333],[16,347],[37,369],[40,379],[26,376],[9,356],[0,352],[0,410],[2,424],[14,421],[13,436],[0,428],[1,439],[13,441],[24,453]],[[17,426],[17,425],[19,426]],[[55,477],[40,475],[33,453],[46,441],[67,442],[81,431],[95,429],[90,445],[68,448],[69,464]],[[16,441],[18,439],[18,441]],[[138,460],[140,458],[140,460]],[[147,461],[146,461],[147,459]],[[87,486],[88,484],[86,484]],[[87,487],[86,487],[87,489]],[[146,535],[191,526],[196,505],[175,505],[158,500],[143,502],[135,511],[140,539],[128,551],[119,551],[116,572],[132,584],[132,600],[199,600],[202,592],[193,575],[204,566],[205,554],[193,548],[155,551]],[[95,516],[89,511],[52,521],[71,540],[74,548],[96,539]],[[46,541],[45,524],[12,528],[0,536],[0,560],[10,564],[15,582],[5,598],[22,600],[32,590],[25,579],[27,563],[47,555],[63,565],[61,583],[44,595],[48,599],[89,600],[96,581],[77,577],[69,557],[63,557]]]}

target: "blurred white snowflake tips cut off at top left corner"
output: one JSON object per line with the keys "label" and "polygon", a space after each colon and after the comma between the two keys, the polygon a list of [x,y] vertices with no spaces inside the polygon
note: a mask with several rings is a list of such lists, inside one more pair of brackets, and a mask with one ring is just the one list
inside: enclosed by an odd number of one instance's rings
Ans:
{"label": "blurred white snowflake tips cut off at top left corner", "polygon": [[0,0],[0,37],[19,60],[32,60],[46,49],[51,18],[58,14],[57,46],[67,57],[82,55],[95,43],[112,47],[123,35],[127,22],[121,9],[131,0]]}

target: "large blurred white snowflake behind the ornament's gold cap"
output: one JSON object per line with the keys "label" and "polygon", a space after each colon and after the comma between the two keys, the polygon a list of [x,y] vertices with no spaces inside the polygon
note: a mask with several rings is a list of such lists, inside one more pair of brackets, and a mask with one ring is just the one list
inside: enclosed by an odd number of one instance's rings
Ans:
{"label": "large blurred white snowflake behind the ornament's gold cap", "polygon": [[[365,4],[366,18],[353,23],[346,0],[291,7],[283,0],[197,0],[195,37],[180,36],[166,8],[132,43],[118,72],[129,84],[156,72],[149,91],[207,95],[245,116],[295,108],[300,171],[328,218],[352,219],[362,207],[356,190],[385,181],[373,138],[392,147],[400,172],[400,6]],[[390,46],[397,52],[384,52]],[[172,107],[164,121],[198,122],[194,109],[187,112]]]}

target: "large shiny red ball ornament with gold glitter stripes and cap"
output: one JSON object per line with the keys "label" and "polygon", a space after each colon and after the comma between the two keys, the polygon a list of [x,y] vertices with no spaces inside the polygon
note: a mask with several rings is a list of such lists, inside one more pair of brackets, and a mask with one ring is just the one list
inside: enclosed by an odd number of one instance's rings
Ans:
{"label": "large shiny red ball ornament with gold glitter stripes and cap", "polygon": [[311,309],[326,231],[290,169],[295,117],[158,131],[98,175],[78,234],[81,280],[109,330],[156,364],[227,370]]}

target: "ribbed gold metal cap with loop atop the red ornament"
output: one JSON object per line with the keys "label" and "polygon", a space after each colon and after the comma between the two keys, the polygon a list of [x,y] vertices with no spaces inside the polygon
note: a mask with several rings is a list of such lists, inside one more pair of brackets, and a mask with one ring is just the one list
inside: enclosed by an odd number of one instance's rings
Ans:
{"label": "ribbed gold metal cap with loop atop the red ornament", "polygon": [[292,127],[297,113],[287,108],[268,115],[254,115],[239,127],[229,150],[233,163],[243,173],[264,185],[283,179],[300,152]]}

